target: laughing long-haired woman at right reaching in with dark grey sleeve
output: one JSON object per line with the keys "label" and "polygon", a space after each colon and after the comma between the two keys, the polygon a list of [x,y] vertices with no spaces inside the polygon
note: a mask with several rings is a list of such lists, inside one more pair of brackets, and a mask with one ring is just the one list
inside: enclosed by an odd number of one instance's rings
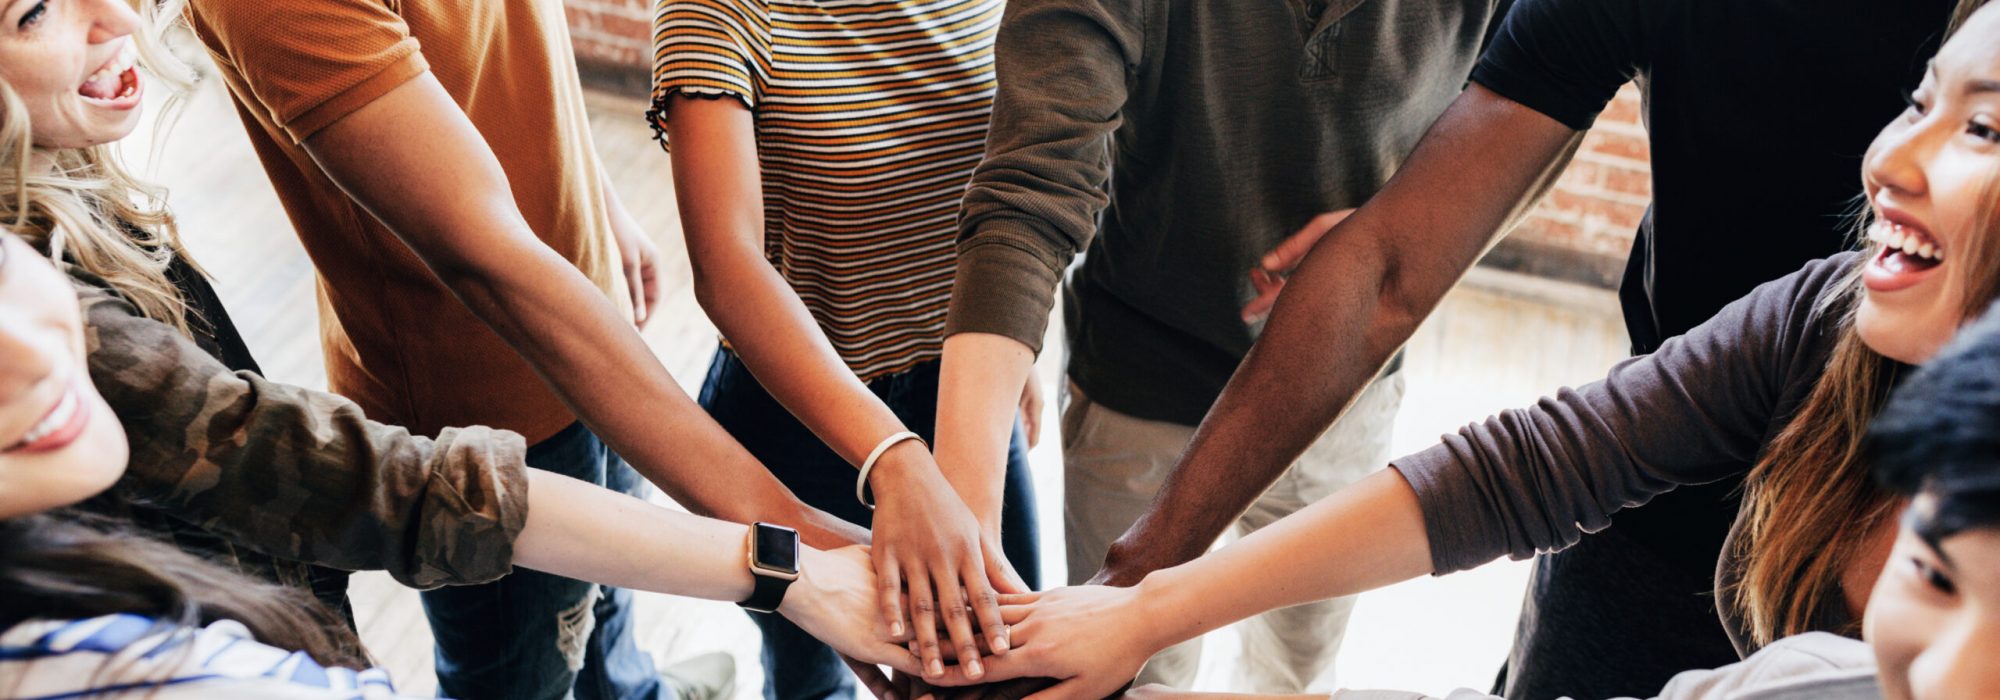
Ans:
{"label": "laughing long-haired woman at right reaching in with dark grey sleeve", "polygon": [[1750,462],[1716,566],[1738,652],[1860,634],[1898,510],[1868,478],[1864,430],[1906,366],[2000,294],[1994,86],[2000,6],[1986,6],[1872,144],[1864,250],[1764,284],[1602,382],[1472,424],[1136,588],[1012,598],[1016,648],[990,678],[1070,678],[1046,698],[1100,698],[1154,652],[1230,620],[1558,550],[1622,508]]}

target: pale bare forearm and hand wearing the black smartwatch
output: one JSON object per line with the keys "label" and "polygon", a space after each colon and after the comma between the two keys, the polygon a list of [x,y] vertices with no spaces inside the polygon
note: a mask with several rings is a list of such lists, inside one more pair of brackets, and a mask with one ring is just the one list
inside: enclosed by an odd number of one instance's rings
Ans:
{"label": "pale bare forearm and hand wearing the black smartwatch", "polygon": [[[562,474],[528,470],[528,520],[514,564],[606,586],[736,602],[756,584],[748,528],[660,508]],[[592,546],[578,546],[590,542]],[[868,550],[802,548],[778,612],[840,654],[916,672],[918,658],[876,614]]]}

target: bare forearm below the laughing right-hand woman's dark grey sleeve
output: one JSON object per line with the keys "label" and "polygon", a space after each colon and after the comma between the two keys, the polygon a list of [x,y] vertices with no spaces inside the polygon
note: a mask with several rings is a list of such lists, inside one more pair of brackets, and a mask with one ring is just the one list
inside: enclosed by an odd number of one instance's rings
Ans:
{"label": "bare forearm below the laughing right-hand woman's dark grey sleeve", "polygon": [[[1276,574],[1274,574],[1276,572]],[[1194,562],[1140,582],[1166,648],[1230,622],[1430,572],[1416,492],[1382,470]]]}

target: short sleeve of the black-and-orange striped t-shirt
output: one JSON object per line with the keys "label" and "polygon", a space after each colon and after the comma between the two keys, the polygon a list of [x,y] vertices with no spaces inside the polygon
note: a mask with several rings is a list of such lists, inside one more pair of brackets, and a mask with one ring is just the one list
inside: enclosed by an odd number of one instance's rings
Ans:
{"label": "short sleeve of the black-and-orange striped t-shirt", "polygon": [[734,96],[756,108],[770,66],[768,2],[662,0],[652,38],[654,112],[672,94]]}

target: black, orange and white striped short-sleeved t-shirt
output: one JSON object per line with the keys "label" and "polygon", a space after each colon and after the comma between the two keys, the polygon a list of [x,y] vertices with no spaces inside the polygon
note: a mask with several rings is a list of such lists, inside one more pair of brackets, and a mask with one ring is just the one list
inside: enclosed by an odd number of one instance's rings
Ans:
{"label": "black, orange and white striped short-sleeved t-shirt", "polygon": [[[754,114],[764,252],[862,380],[940,356],[1002,0],[662,0],[654,110]],[[664,142],[664,130],[662,142]]]}

